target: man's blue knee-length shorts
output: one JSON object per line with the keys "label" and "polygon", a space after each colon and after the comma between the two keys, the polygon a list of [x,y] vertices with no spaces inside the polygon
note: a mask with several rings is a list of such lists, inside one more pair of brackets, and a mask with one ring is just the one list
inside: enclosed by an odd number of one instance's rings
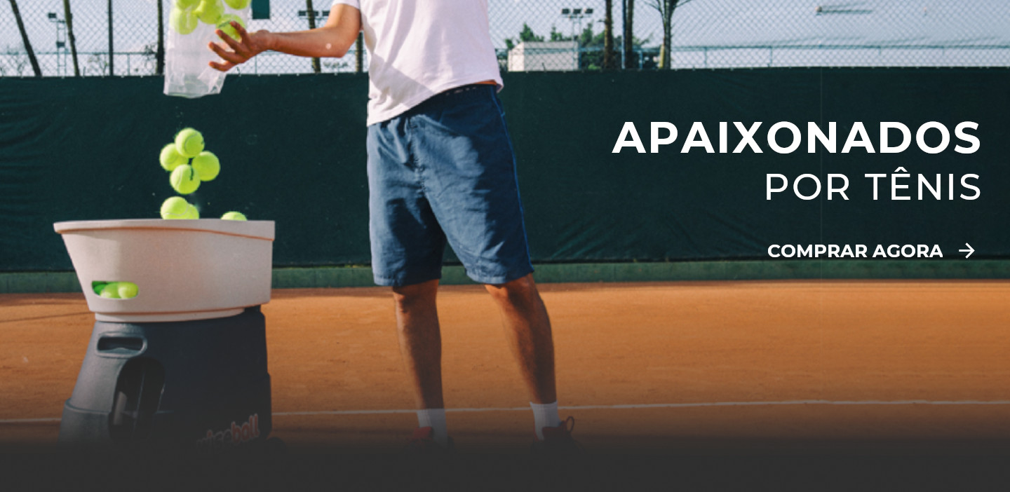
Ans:
{"label": "man's blue knee-length shorts", "polygon": [[441,278],[446,242],[477,282],[533,271],[504,116],[495,86],[473,85],[369,126],[377,284]]}

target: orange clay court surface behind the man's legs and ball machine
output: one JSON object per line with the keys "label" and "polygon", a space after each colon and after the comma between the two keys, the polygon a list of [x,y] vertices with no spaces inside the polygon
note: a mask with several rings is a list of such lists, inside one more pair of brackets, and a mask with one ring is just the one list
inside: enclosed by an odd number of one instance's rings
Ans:
{"label": "orange clay court surface behind the man's legs and ball machine", "polygon": [[[972,455],[1010,442],[1010,283],[541,284],[563,415],[588,454]],[[479,286],[439,293],[461,452],[527,453],[532,416]],[[289,453],[396,451],[416,424],[386,288],[278,289],[263,309]],[[94,318],[0,295],[0,446],[54,445]]]}

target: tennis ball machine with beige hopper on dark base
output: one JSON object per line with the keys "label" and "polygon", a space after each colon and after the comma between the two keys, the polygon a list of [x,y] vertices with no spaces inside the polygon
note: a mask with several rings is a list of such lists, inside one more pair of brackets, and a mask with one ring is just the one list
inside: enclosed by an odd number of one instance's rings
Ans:
{"label": "tennis ball machine with beige hopper on dark base", "polygon": [[[266,321],[274,223],[54,224],[95,327],[60,443],[220,450],[271,432]],[[118,296],[103,288],[135,284]],[[122,291],[122,289],[120,289]]]}

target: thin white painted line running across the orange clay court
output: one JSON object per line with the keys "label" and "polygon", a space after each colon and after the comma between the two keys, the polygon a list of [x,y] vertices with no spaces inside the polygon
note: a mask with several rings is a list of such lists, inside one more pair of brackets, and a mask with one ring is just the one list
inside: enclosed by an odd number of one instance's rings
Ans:
{"label": "thin white painted line running across the orange clay court", "polygon": [[[777,406],[777,405],[1010,405],[1010,400],[789,400],[789,401],[711,401],[696,403],[643,403],[625,405],[572,405],[559,406],[561,410],[622,410],[644,408],[699,408],[710,406]],[[295,415],[382,415],[393,413],[414,413],[412,409],[388,410],[317,410],[317,411],[275,411],[273,416]],[[529,411],[528,406],[491,408],[446,408],[446,412],[477,411]],[[3,423],[58,422],[60,418],[6,418]]]}

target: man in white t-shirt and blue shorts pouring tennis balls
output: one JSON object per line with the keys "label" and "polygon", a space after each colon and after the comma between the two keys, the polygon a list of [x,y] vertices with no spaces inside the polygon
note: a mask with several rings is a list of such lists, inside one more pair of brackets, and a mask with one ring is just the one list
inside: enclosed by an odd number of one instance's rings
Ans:
{"label": "man in white t-shirt and blue shorts pouring tennis balls", "polygon": [[375,281],[393,288],[400,351],[418,408],[411,440],[450,446],[435,295],[446,242],[497,302],[530,394],[536,446],[574,446],[554,389],[553,343],[533,282],[515,159],[497,91],[487,0],[336,0],[326,24],[299,32],[217,31],[227,71],[266,50],[342,56],[369,50],[368,174]]}

